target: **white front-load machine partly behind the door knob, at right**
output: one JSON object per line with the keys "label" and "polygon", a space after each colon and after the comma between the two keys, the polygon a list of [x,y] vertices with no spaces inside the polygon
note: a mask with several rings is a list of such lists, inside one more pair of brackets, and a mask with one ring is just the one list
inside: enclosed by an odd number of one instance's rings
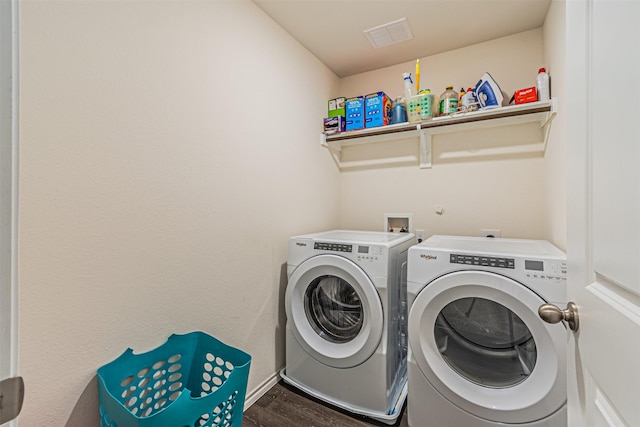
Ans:
{"label": "white front-load machine partly behind the door knob, at right", "polygon": [[566,427],[566,257],[542,240],[433,236],[409,250],[412,427]]}

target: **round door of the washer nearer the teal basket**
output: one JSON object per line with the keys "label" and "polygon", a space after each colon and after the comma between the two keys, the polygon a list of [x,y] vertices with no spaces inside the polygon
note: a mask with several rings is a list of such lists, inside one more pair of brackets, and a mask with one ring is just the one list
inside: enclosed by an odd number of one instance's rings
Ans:
{"label": "round door of the washer nearer the teal basket", "polygon": [[298,344],[336,368],[357,366],[378,348],[383,310],[365,272],[336,255],[318,255],[291,274],[285,295],[287,321]]}

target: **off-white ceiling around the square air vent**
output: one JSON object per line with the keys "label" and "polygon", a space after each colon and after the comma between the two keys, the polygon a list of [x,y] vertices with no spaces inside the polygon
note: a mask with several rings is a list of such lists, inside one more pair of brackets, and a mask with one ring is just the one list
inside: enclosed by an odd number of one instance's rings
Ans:
{"label": "off-white ceiling around the square air vent", "polygon": [[[551,0],[253,0],[338,77],[539,28]],[[406,18],[413,39],[374,49],[363,31]]]}

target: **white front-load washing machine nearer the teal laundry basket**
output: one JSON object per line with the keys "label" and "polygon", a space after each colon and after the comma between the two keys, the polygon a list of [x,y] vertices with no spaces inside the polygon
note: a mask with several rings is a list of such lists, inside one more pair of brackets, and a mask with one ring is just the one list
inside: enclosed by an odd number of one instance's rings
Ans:
{"label": "white front-load washing machine nearer the teal laundry basket", "polygon": [[289,384],[387,424],[407,395],[411,233],[334,230],[291,238],[285,296]]}

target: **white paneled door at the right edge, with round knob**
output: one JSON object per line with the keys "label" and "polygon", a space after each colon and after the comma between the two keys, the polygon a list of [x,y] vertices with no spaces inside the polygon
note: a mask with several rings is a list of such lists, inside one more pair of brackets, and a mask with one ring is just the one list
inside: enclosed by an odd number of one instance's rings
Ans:
{"label": "white paneled door at the right edge, with round knob", "polygon": [[[566,2],[569,426],[640,426],[640,2]],[[562,307],[564,308],[564,307]]]}

